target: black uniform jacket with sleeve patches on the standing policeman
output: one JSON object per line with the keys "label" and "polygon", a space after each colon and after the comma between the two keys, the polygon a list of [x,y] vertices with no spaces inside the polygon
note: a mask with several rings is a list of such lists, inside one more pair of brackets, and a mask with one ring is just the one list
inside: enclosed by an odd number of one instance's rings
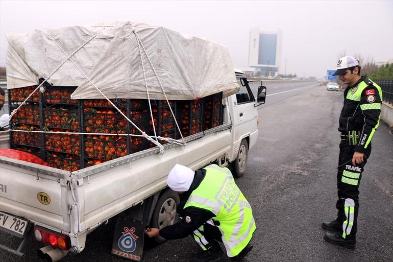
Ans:
{"label": "black uniform jacket with sleeve patches on the standing policeman", "polygon": [[[362,81],[365,81],[368,86],[362,91],[360,102],[347,99],[348,92]],[[369,139],[370,135],[373,135],[372,130],[378,127],[379,115],[381,113],[380,109],[361,109],[361,105],[370,104],[369,101],[371,100],[367,101],[369,96],[374,96],[372,103],[381,103],[378,89],[369,79],[361,77],[354,86],[348,85],[344,91],[344,106],[339,118],[338,131],[346,134],[349,131],[359,131],[360,137],[355,146],[355,151],[360,153],[364,153],[365,140]]]}

